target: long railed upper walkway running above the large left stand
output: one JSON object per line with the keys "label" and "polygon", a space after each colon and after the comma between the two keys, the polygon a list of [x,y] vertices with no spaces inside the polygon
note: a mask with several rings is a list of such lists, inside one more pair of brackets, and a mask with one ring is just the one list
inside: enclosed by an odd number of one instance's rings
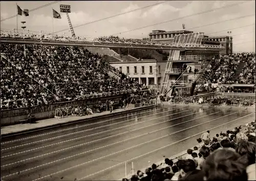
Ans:
{"label": "long railed upper walkway running above the large left stand", "polygon": [[89,36],[68,36],[65,33],[53,34],[44,31],[29,31],[29,30],[6,30],[1,29],[1,38],[26,38],[36,40],[51,40],[51,41],[72,41],[72,42],[88,42],[88,43],[108,43],[108,44],[126,44],[134,46],[151,46],[151,47],[166,47],[166,48],[210,48],[224,49],[223,46],[215,46],[201,43],[175,43],[165,41],[151,41],[142,39],[124,39],[124,38],[108,38],[108,37],[89,37]]}

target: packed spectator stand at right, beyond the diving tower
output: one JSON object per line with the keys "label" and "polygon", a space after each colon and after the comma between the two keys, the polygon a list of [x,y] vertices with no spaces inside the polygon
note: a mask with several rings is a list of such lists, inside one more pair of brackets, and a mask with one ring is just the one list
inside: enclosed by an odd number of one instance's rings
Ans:
{"label": "packed spectator stand at right, beyond the diving tower", "polygon": [[[239,72],[238,69],[241,65],[242,70]],[[255,84],[255,53],[219,55],[212,60],[206,71],[211,83]],[[233,79],[234,76],[237,79]]]}

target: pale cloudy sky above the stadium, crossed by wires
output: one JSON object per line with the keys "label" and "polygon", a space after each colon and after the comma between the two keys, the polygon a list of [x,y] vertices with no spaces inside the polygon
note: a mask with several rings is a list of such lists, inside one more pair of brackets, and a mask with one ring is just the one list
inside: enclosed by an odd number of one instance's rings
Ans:
{"label": "pale cloudy sky above the stadium, crossed by wires", "polygon": [[[75,27],[94,20],[113,16],[148,5],[153,5],[159,2],[161,1],[62,1],[32,11],[27,17],[24,15],[18,16],[18,26],[20,28],[20,21],[25,20],[27,29],[31,31],[41,30],[52,32],[53,27],[54,32],[69,29],[66,14],[59,12],[60,4],[71,5],[70,19],[73,27]],[[77,27],[74,28],[74,31],[76,35],[85,35],[91,37],[116,34],[119,37],[124,38],[143,38],[148,37],[148,33],[152,32],[152,30],[181,30],[182,24],[185,24],[187,30],[204,32],[205,35],[209,36],[227,35],[227,31],[231,31],[233,36],[234,52],[255,52],[255,1],[244,1],[246,3],[237,6],[222,8],[190,17],[184,17],[190,14],[221,8],[223,6],[236,4],[239,2],[243,1],[167,1],[157,6],[140,9],[135,12]],[[31,10],[51,2],[2,1],[1,19],[16,15],[16,3],[22,9]],[[52,8],[59,12],[62,17],[61,19],[54,19],[54,26]],[[246,17],[238,18],[242,16]],[[120,32],[157,24],[159,22],[168,21],[179,17],[184,18],[120,34]],[[226,21],[219,22],[223,20]],[[219,23],[215,25],[208,25],[215,22]],[[1,22],[1,29],[14,28],[16,29],[16,17]],[[63,32],[70,33],[68,30],[62,31],[61,33]]]}

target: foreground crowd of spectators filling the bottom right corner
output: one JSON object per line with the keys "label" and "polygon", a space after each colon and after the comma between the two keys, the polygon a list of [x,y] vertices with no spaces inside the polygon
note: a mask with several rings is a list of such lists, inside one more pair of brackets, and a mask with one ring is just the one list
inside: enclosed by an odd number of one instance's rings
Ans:
{"label": "foreground crowd of spectators filling the bottom right corner", "polygon": [[[185,155],[138,170],[131,180],[255,180],[255,122],[212,137],[210,131],[197,139],[199,145]],[[178,159],[177,162],[175,160]],[[128,180],[127,178],[123,178]]]}

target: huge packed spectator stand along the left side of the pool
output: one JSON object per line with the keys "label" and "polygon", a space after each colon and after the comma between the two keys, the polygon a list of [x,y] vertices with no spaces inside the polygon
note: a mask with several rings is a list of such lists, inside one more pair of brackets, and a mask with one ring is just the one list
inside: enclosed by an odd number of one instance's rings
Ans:
{"label": "huge packed spectator stand along the left side of the pool", "polygon": [[139,90],[118,80],[99,55],[79,47],[1,44],[1,109],[46,105]]}

